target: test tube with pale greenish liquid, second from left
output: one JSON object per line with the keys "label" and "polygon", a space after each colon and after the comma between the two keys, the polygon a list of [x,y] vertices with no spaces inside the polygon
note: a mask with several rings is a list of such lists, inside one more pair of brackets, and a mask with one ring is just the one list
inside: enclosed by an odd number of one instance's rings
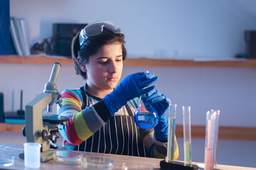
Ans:
{"label": "test tube with pale greenish liquid, second from left", "polygon": [[184,164],[191,166],[191,106],[182,106]]}

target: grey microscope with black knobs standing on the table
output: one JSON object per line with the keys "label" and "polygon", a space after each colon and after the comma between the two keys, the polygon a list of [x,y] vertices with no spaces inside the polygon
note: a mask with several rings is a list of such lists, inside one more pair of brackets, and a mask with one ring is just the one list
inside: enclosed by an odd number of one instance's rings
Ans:
{"label": "grey microscope with black knobs standing on the table", "polygon": [[[53,153],[64,150],[65,147],[54,146],[57,142],[58,125],[64,125],[68,118],[60,115],[43,115],[43,109],[47,107],[47,112],[52,112],[54,103],[61,107],[61,95],[58,93],[56,80],[61,65],[58,62],[53,64],[50,79],[45,85],[43,93],[29,102],[25,108],[26,126],[23,128],[23,136],[27,142],[36,142],[41,147],[41,162],[53,159]],[[51,146],[54,146],[53,148]],[[19,154],[21,159],[24,153]]]}

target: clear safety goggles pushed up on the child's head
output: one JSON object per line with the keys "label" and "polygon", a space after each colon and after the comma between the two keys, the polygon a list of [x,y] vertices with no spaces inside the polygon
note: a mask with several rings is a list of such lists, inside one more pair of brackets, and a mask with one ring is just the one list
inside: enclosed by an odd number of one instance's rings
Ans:
{"label": "clear safety goggles pushed up on the child's head", "polygon": [[97,21],[95,23],[90,23],[85,28],[83,28],[79,35],[80,46],[90,37],[102,33],[103,28],[112,30],[113,33],[121,33],[117,24],[112,21]]}

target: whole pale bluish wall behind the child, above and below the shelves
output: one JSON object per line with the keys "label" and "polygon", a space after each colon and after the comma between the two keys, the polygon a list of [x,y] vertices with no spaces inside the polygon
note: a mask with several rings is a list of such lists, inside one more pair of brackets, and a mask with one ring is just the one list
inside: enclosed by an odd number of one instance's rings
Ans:
{"label": "whole pale bluish wall behind the child, above and below the shelves", "polygon": [[[245,51],[243,31],[256,28],[255,18],[232,2],[11,0],[11,15],[28,20],[31,44],[50,37],[55,22],[112,20],[126,35],[129,57],[230,59]],[[23,105],[41,94],[51,69],[51,65],[0,64],[4,110],[11,111],[12,91],[15,110],[21,89]],[[189,105],[192,125],[205,125],[206,111],[216,108],[220,125],[256,126],[256,69],[125,67],[123,77],[145,70],[159,76],[157,89],[178,104],[177,124],[182,124],[181,106]],[[84,84],[72,66],[61,67],[59,91]],[[179,145],[181,149],[182,140]],[[192,146],[193,161],[203,162],[203,140],[194,140],[192,145],[197,146]],[[218,154],[225,157],[220,156],[219,164],[255,166],[255,142],[224,141],[218,146]]]}

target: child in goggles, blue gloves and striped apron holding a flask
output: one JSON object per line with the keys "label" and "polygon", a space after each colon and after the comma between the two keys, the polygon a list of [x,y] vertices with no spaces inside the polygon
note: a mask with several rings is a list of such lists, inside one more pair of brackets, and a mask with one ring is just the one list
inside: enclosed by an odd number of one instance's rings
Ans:
{"label": "child in goggles, blue gloves and striped apron holding a flask", "polygon": [[[73,39],[75,72],[86,80],[80,89],[62,92],[58,115],[69,118],[60,125],[64,145],[86,152],[123,154],[139,157],[166,157],[168,119],[164,114],[171,101],[150,86],[158,79],[139,72],[117,86],[127,56],[124,35],[114,23],[99,21],[85,26]],[[134,112],[139,96],[147,109],[159,115],[152,129],[138,128]],[[178,145],[175,146],[178,159]]]}

